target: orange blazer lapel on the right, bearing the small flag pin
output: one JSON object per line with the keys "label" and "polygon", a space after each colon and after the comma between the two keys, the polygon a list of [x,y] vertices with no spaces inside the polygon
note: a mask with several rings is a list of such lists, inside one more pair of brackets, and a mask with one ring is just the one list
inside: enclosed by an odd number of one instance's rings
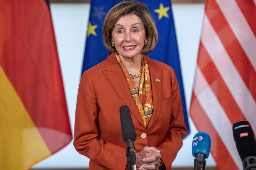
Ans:
{"label": "orange blazer lapel on the right, bearing the small flag pin", "polygon": [[152,86],[152,95],[153,95],[153,115],[147,125],[148,128],[154,125],[154,122],[157,120],[157,117],[160,113],[160,104],[161,104],[161,93],[162,93],[162,86],[161,83],[156,81],[158,78],[160,81],[162,80],[162,70],[160,67],[156,65],[154,60],[147,57],[147,64],[149,66],[149,75],[150,75],[150,83]]}

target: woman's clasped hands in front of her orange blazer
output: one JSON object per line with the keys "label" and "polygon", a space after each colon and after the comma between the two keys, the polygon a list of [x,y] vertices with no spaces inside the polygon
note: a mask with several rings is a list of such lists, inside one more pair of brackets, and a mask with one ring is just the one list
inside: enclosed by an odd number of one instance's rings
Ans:
{"label": "woman's clasped hands in front of her orange blazer", "polygon": [[155,147],[144,147],[141,151],[136,152],[136,166],[140,170],[158,170],[160,165],[161,154]]}

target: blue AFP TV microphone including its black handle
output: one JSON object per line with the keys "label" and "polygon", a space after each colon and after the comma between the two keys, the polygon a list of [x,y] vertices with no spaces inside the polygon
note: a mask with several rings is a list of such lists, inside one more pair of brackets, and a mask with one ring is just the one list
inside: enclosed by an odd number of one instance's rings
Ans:
{"label": "blue AFP TV microphone including its black handle", "polygon": [[192,141],[192,155],[194,159],[194,170],[205,170],[206,158],[211,149],[211,138],[205,132],[195,134]]}

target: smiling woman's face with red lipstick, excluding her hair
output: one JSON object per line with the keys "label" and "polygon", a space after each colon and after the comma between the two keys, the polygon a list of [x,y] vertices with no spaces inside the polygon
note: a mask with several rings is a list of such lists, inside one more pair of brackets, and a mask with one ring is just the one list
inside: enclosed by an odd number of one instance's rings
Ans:
{"label": "smiling woman's face with red lipstick, excluding her hair", "polygon": [[111,41],[114,41],[119,56],[141,57],[145,39],[144,24],[137,15],[128,14],[118,18],[112,31]]}

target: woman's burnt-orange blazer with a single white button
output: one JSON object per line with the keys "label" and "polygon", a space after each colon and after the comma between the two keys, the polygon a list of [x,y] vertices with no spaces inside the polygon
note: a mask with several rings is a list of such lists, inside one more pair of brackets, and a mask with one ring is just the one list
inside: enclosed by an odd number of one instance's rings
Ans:
{"label": "woman's burnt-orange blazer with a single white button", "polygon": [[[154,146],[168,170],[187,134],[178,81],[173,69],[147,57],[154,113],[145,128],[115,54],[82,75],[75,111],[74,147],[90,159],[90,170],[124,170],[126,143],[119,108],[127,105],[137,138],[135,151]],[[159,79],[161,82],[156,81]]]}

